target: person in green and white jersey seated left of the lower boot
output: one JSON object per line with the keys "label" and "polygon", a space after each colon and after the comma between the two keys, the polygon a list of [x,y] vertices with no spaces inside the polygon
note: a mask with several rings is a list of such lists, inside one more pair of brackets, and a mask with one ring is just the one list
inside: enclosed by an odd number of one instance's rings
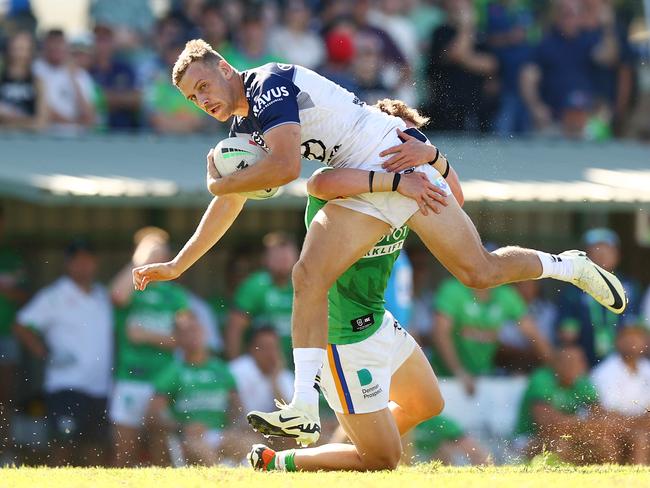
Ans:
{"label": "person in green and white jersey seated left of the lower boot", "polygon": [[188,464],[240,462],[256,438],[244,426],[235,378],[226,363],[210,356],[204,330],[192,312],[177,315],[175,331],[183,359],[154,379],[151,430],[177,433]]}

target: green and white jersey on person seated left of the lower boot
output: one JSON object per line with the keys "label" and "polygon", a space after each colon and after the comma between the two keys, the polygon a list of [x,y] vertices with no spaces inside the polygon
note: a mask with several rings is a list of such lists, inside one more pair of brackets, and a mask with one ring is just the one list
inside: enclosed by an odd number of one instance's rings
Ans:
{"label": "green and white jersey on person seated left of the lower boot", "polygon": [[156,393],[169,398],[178,422],[199,422],[210,430],[228,424],[230,394],[236,388],[228,366],[216,358],[203,364],[174,361],[154,379]]}

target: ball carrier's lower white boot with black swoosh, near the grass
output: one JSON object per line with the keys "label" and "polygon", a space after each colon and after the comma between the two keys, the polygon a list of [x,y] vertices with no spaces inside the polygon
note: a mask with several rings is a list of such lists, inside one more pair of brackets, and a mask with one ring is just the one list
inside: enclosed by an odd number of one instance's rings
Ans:
{"label": "ball carrier's lower white boot with black swoosh, near the grass", "polygon": [[313,444],[320,437],[318,405],[314,408],[286,405],[275,401],[275,412],[253,410],[246,416],[253,430],[265,437],[290,437],[302,447]]}

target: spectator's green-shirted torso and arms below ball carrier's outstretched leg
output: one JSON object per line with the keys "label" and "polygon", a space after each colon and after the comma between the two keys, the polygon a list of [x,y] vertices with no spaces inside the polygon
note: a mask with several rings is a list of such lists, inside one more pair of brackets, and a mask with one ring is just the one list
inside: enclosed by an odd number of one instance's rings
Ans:
{"label": "spectator's green-shirted torso and arms below ball carrier's outstretched leg", "polygon": [[440,286],[435,309],[434,369],[440,375],[456,376],[468,395],[474,394],[475,376],[494,372],[499,331],[508,321],[519,324],[541,357],[550,356],[548,341],[510,286],[473,290],[451,278]]}

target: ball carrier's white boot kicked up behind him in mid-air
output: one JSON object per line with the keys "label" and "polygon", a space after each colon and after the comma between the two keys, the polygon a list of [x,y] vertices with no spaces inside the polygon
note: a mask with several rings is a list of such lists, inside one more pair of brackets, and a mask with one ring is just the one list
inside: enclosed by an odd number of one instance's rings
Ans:
{"label": "ball carrier's white boot kicked up behind him in mid-air", "polygon": [[609,271],[594,263],[584,251],[564,251],[558,259],[567,259],[573,266],[573,277],[569,283],[591,295],[603,307],[616,314],[621,314],[627,307],[625,289]]}

